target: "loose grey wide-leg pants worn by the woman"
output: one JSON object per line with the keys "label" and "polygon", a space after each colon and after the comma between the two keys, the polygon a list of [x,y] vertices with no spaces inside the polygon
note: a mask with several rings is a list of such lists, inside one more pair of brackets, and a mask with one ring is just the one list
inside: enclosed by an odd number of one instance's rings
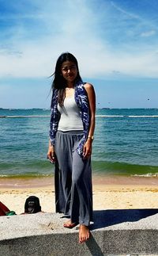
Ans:
{"label": "loose grey wide-leg pants worn by the woman", "polygon": [[88,226],[92,221],[92,168],[91,159],[82,159],[76,151],[82,137],[81,131],[56,134],[55,204],[56,212]]}

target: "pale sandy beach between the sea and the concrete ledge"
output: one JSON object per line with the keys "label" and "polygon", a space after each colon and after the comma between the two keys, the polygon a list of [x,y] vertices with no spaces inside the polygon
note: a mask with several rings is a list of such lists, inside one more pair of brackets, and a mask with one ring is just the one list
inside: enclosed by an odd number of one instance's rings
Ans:
{"label": "pale sandy beach between the sea and the concrete ledge", "polygon": [[[29,196],[43,212],[55,212],[54,178],[0,178],[0,201],[17,214]],[[158,178],[93,177],[93,209],[158,208]]]}

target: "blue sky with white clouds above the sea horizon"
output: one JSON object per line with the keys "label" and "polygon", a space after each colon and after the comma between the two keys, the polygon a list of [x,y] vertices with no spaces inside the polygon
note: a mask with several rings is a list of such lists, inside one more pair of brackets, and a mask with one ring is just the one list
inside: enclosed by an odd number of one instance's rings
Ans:
{"label": "blue sky with white clouds above the sea horizon", "polygon": [[49,108],[62,52],[97,107],[157,108],[157,0],[0,0],[0,107]]}

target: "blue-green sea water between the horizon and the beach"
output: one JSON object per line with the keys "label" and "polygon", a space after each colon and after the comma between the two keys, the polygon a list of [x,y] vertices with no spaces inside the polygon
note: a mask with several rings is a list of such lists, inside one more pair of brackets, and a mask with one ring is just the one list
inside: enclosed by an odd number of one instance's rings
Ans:
{"label": "blue-green sea water between the horizon and the beach", "polygon": [[[0,109],[0,177],[49,176],[50,111]],[[97,109],[93,174],[158,176],[158,109]]]}

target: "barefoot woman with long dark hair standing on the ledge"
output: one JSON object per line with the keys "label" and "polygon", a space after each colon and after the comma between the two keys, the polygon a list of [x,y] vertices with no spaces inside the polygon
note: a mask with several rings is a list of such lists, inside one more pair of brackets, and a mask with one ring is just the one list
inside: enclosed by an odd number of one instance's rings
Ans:
{"label": "barefoot woman with long dark hair standing on the ledge", "polygon": [[64,227],[80,224],[79,243],[83,243],[92,221],[96,97],[93,86],[82,82],[77,59],[69,52],[58,57],[52,91],[47,158],[55,162],[56,212],[70,216]]}

